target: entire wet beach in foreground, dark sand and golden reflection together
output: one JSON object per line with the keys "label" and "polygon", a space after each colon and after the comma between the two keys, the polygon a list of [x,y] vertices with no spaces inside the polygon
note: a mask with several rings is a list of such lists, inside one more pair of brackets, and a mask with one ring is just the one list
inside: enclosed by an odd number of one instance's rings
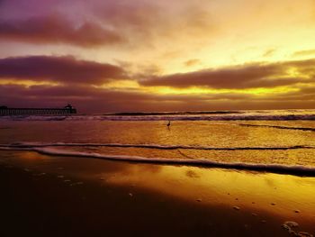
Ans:
{"label": "entire wet beach in foreground, dark sand and golden reflection together", "polygon": [[1,236],[291,236],[315,232],[315,178],[0,154]]}

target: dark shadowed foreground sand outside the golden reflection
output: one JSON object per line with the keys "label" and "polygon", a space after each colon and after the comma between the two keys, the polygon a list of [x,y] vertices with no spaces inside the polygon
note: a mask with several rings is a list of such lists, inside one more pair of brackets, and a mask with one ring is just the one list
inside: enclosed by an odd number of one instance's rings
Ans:
{"label": "dark shadowed foreground sand outside the golden reflection", "polygon": [[[157,186],[165,183],[165,187],[148,188],[141,185],[148,182],[146,174],[142,177],[139,172],[130,178],[123,175],[124,169],[137,164],[47,158],[32,152],[2,152],[0,158],[2,237],[290,236],[282,223],[299,216],[277,215],[266,209],[281,205],[278,202],[265,209],[248,207],[256,204],[249,203],[250,197],[248,201],[239,201],[242,196],[233,194],[233,190],[230,194],[213,191],[212,201],[191,193],[188,187],[187,193],[181,194],[186,184],[176,178],[172,180],[176,179],[178,186],[172,183],[171,190],[167,185],[171,179],[161,177],[156,177]],[[161,172],[159,166],[139,166],[148,169],[153,177]],[[237,171],[224,175],[233,173]],[[132,179],[134,175],[140,177],[138,181]],[[191,179],[200,176],[196,171],[186,175]],[[111,177],[126,180],[112,182]],[[155,186],[154,182],[147,184]],[[222,195],[229,202],[221,201]],[[255,197],[252,199],[259,202]],[[314,232],[310,215],[301,216],[293,220],[300,223],[299,231]]]}

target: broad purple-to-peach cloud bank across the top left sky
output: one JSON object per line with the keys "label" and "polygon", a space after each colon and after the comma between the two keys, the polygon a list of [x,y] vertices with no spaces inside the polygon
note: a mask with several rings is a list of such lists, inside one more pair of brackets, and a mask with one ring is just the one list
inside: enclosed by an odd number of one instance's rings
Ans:
{"label": "broad purple-to-peach cloud bank across the top left sky", "polygon": [[[30,11],[22,11],[23,8]],[[155,47],[175,38],[205,38],[213,30],[209,14],[189,1],[4,1],[0,41],[31,44]],[[207,32],[204,31],[205,28]],[[189,36],[189,37],[187,37]]]}

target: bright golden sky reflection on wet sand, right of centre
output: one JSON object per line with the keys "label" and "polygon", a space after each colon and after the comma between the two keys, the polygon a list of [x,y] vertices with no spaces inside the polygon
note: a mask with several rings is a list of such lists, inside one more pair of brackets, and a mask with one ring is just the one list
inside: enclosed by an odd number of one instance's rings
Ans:
{"label": "bright golden sky reflection on wet sand, right of centre", "polygon": [[103,173],[102,176],[115,185],[144,187],[203,204],[238,205],[289,219],[315,218],[315,178],[135,164],[115,175]]}

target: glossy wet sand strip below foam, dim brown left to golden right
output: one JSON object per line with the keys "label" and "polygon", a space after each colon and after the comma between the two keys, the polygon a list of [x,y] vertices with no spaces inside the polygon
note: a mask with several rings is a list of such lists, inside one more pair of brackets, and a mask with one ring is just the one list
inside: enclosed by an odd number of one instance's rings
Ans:
{"label": "glossy wet sand strip below foam, dim brown left to golden right", "polygon": [[17,163],[23,165],[35,162],[37,169],[62,166],[66,167],[69,175],[102,178],[112,185],[145,188],[189,202],[238,205],[251,212],[264,211],[307,222],[315,220],[315,178],[311,177],[234,169],[51,158],[29,151],[14,152],[14,156],[18,159]]}

